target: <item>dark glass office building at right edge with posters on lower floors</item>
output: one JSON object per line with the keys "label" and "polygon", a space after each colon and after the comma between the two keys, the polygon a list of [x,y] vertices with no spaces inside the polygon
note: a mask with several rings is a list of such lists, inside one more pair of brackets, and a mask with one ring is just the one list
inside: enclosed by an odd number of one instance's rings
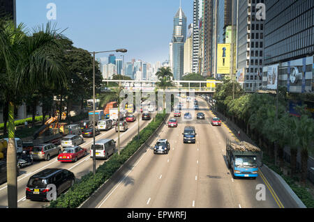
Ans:
{"label": "dark glass office building at right edge with posters on lower floors", "polygon": [[[314,1],[265,0],[264,3],[262,88],[285,86],[290,93],[313,93]],[[255,30],[262,28],[255,25]]]}

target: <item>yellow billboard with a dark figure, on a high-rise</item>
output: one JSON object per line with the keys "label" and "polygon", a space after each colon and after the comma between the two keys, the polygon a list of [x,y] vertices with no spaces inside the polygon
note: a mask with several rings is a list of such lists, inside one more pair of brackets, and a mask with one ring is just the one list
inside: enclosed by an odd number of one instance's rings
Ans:
{"label": "yellow billboard with a dark figure, on a high-rise", "polygon": [[230,74],[231,44],[217,45],[217,74]]}

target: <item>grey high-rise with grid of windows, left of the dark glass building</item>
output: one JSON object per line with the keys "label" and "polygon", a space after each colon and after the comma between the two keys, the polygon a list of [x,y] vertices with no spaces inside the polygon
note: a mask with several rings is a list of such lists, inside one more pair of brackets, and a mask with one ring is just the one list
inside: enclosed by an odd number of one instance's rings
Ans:
{"label": "grey high-rise with grid of windows, left of the dark glass building", "polygon": [[264,64],[264,20],[256,16],[261,1],[239,1],[237,12],[237,72],[242,73],[238,81],[246,91],[262,84],[258,76]]}

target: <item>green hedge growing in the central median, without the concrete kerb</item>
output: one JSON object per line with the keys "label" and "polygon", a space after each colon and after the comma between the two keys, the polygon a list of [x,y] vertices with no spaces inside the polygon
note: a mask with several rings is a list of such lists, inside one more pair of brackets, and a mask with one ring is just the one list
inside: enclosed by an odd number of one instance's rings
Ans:
{"label": "green hedge growing in the central median, without the concrete kerb", "polygon": [[57,200],[53,200],[49,207],[79,207],[149,139],[163,120],[165,120],[165,117],[165,114],[157,114],[155,122],[149,122],[149,125],[140,132],[140,142],[137,141],[137,136],[135,136],[132,141],[126,145],[124,150],[121,150],[120,155],[117,152],[113,154],[108,161],[97,168],[95,175],[92,172],[84,175],[78,182],[75,182],[73,187],[66,193],[61,194]]}

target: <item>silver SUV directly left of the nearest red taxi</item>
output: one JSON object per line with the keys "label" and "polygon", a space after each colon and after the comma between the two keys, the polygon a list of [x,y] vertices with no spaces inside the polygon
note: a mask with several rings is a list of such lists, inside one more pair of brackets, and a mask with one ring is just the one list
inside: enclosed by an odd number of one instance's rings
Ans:
{"label": "silver SUV directly left of the nearest red taxi", "polygon": [[36,145],[31,150],[33,159],[45,159],[50,160],[51,157],[61,153],[61,146],[54,145],[52,143],[45,143]]}

